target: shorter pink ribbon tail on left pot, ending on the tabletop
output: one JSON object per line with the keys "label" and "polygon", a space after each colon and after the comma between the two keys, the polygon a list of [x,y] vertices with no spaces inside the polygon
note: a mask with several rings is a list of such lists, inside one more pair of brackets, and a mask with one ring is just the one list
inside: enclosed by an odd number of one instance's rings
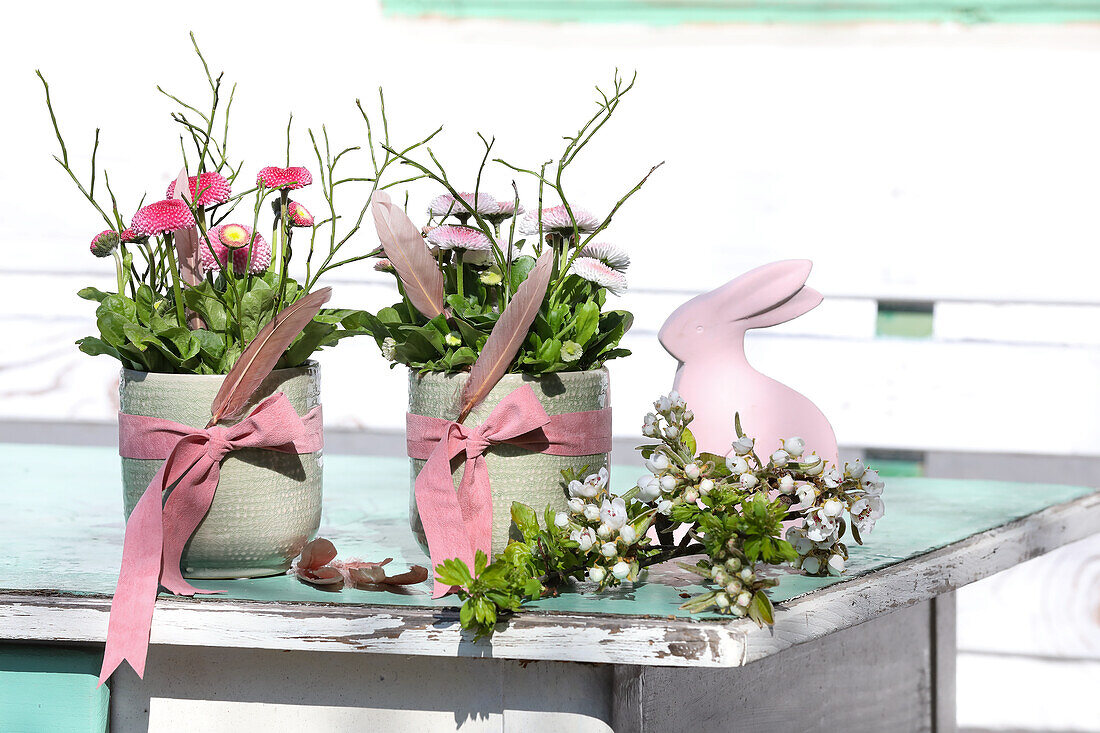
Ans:
{"label": "shorter pink ribbon tail on left pot, ending on the tabletop", "polygon": [[164,504],[164,549],[161,559],[161,584],[176,595],[224,593],[195,588],[184,579],[179,562],[187,540],[195,534],[210,505],[221,478],[220,464],[202,456],[180,479]]}

